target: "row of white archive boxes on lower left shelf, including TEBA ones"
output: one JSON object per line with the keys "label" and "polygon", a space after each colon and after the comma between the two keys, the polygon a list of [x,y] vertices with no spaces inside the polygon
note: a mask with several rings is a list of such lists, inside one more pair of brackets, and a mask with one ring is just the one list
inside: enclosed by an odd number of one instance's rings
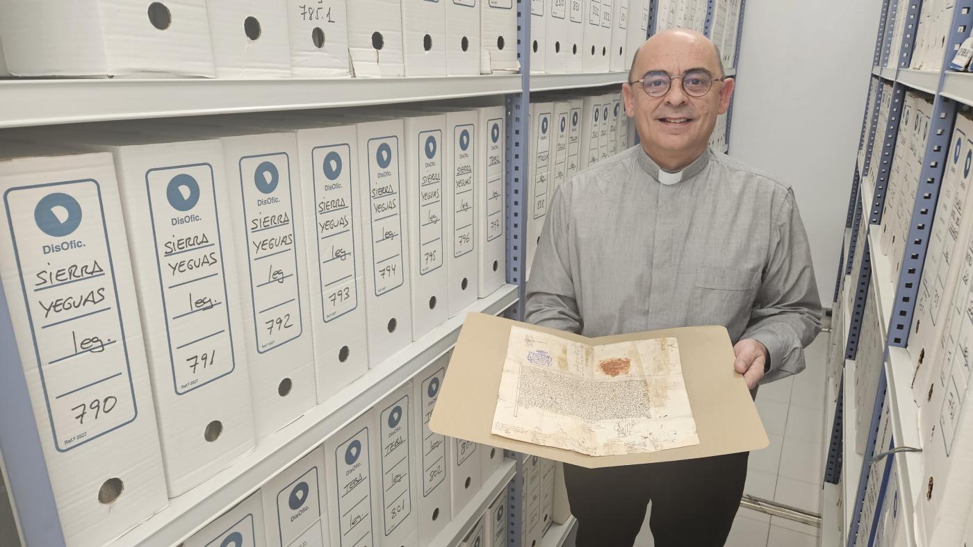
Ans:
{"label": "row of white archive boxes on lower left shelf, including TEBA ones", "polygon": [[448,360],[433,362],[324,439],[185,547],[418,547],[437,538],[454,545],[467,534],[481,537],[471,546],[506,545],[506,488],[470,530],[440,537],[482,489],[492,488],[489,479],[504,462],[500,449],[429,429]]}

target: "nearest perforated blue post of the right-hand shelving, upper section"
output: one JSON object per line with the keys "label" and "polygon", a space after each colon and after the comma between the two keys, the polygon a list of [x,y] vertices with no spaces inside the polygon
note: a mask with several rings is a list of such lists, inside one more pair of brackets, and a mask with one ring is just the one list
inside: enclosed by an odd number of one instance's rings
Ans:
{"label": "nearest perforated blue post of the right-hand shelving, upper section", "polygon": [[[973,24],[973,0],[957,1],[950,36],[946,42],[939,89],[943,88],[951,53],[956,51],[969,35],[971,24]],[[905,254],[902,256],[902,269],[896,283],[892,315],[889,318],[888,344],[891,346],[905,347],[909,341],[916,297],[919,294],[919,282],[922,279],[922,266],[929,245],[929,232],[932,231],[932,221],[939,201],[939,190],[950,150],[950,141],[953,138],[955,119],[956,102],[937,94],[932,105],[932,123],[922,158],[922,170],[919,172],[919,190],[909,224]]]}

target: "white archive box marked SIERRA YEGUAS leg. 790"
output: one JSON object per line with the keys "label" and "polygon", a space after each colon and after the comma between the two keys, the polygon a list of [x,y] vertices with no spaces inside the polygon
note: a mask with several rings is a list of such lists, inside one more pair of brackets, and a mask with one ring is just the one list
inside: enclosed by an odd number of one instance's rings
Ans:
{"label": "white archive box marked SIERRA YEGUAS leg. 790", "polygon": [[23,366],[65,542],[101,545],[167,503],[115,167],[111,154],[0,151],[7,351]]}

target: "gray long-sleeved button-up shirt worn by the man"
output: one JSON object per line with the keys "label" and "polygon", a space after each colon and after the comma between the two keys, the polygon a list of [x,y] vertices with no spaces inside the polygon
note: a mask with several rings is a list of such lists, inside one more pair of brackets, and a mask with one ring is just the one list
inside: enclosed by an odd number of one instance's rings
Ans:
{"label": "gray long-sleeved button-up shirt worn by the man", "polygon": [[767,383],[804,369],[820,314],[790,188],[708,150],[673,175],[636,146],[555,192],[524,321],[585,336],[724,325],[767,346]]}

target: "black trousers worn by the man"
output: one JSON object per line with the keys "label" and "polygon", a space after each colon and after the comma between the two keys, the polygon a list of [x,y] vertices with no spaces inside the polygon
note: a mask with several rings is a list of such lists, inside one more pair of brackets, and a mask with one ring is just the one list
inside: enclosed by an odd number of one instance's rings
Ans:
{"label": "black trousers worn by the man", "polygon": [[656,547],[722,547],[739,509],[748,452],[621,467],[564,464],[577,547],[631,547],[652,501]]}

